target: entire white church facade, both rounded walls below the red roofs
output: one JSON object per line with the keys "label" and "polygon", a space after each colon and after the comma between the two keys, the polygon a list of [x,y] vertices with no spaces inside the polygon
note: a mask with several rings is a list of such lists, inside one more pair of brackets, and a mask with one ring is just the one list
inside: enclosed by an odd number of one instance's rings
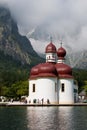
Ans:
{"label": "entire white church facade, both rounded walls below the red roofs", "polygon": [[[35,87],[35,88],[34,88]],[[34,90],[35,89],[35,90]],[[73,79],[38,78],[29,81],[29,97],[31,103],[49,102],[52,104],[73,104],[78,101],[78,87],[73,84]],[[76,98],[76,99],[75,99]]]}

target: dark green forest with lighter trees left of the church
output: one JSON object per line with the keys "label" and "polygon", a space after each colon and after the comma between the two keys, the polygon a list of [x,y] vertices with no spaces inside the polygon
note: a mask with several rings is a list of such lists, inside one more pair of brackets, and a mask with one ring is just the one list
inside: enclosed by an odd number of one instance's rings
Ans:
{"label": "dark green forest with lighter trees left of the church", "polygon": [[17,99],[28,95],[29,71],[29,65],[0,53],[0,96]]}

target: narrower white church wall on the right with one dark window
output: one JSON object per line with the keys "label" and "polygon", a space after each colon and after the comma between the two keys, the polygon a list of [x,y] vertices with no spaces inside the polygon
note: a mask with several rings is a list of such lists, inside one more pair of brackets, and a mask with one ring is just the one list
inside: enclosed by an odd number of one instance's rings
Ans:
{"label": "narrower white church wall on the right with one dark window", "polygon": [[[61,91],[61,84],[64,83],[65,91]],[[59,104],[74,103],[73,79],[60,79],[58,82]]]}

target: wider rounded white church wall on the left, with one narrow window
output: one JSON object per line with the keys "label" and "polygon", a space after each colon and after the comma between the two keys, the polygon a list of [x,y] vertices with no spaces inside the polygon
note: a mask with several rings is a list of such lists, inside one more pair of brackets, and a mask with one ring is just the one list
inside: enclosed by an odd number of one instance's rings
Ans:
{"label": "wider rounded white church wall on the left, with one narrow window", "polygon": [[[35,92],[32,92],[32,86],[35,83]],[[33,99],[39,99],[41,101],[44,98],[44,102],[47,102],[47,99],[51,103],[57,102],[57,92],[55,92],[55,83],[57,84],[57,78],[38,78],[35,80],[30,80],[29,82],[29,99],[33,102]]]}

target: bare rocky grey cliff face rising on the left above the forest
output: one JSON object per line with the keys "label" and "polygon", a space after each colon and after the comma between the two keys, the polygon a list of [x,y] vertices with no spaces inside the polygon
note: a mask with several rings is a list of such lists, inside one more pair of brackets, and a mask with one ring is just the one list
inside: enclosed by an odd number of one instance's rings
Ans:
{"label": "bare rocky grey cliff face rising on the left above the forest", "polygon": [[0,8],[0,52],[21,64],[32,65],[42,59],[33,50],[30,41],[18,32],[16,22],[8,9]]}

